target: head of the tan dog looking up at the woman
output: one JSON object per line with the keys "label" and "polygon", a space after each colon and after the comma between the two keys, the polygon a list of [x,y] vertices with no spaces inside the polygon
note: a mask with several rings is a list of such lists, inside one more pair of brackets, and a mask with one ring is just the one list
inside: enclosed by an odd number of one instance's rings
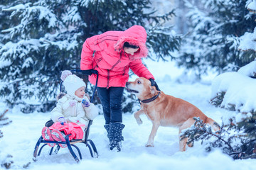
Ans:
{"label": "head of the tan dog looking up at the woman", "polygon": [[137,98],[141,99],[150,94],[156,94],[156,87],[151,86],[151,82],[144,77],[139,77],[135,81],[128,81],[126,88],[129,93],[135,94]]}

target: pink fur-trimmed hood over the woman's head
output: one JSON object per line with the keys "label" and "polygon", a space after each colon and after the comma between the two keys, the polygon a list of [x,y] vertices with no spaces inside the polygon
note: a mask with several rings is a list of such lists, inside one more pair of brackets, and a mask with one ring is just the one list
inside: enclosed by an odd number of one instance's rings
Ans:
{"label": "pink fur-trimmed hood over the woman's head", "polygon": [[139,46],[138,52],[135,52],[134,55],[132,55],[132,58],[139,59],[147,56],[146,30],[142,26],[132,26],[131,28],[124,30],[123,33],[119,35],[117,43],[114,45],[114,49],[117,52],[121,52],[124,42]]}

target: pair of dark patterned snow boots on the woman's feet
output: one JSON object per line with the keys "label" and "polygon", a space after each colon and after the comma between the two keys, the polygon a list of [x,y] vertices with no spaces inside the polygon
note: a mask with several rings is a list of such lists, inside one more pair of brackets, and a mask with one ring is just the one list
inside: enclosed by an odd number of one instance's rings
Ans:
{"label": "pair of dark patterned snow boots on the woman's feet", "polygon": [[110,150],[117,148],[117,152],[121,151],[122,140],[122,130],[124,129],[124,124],[122,123],[110,123]]}

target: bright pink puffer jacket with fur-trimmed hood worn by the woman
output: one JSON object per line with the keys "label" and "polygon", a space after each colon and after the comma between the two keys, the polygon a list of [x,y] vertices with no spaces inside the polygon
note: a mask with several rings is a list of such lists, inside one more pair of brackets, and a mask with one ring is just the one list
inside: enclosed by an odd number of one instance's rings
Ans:
{"label": "bright pink puffer jacket with fur-trimmed hood worn by the woman", "polygon": [[[139,46],[139,50],[134,52],[134,55],[124,53],[124,42]],[[146,30],[142,26],[132,26],[124,31],[107,31],[85,40],[82,45],[80,69],[97,70],[99,87],[124,87],[129,79],[129,69],[138,77],[154,79],[142,64],[142,57],[146,57],[147,52]],[[92,74],[89,80],[95,85],[96,75]]]}

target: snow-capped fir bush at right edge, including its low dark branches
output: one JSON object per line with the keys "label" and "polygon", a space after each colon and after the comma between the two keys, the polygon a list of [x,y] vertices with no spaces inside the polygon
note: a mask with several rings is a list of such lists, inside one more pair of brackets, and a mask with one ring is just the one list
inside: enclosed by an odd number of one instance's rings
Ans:
{"label": "snow-capped fir bush at right edge, including its low dark branches", "polygon": [[[220,147],[234,159],[256,159],[256,79],[255,63],[241,67],[238,72],[226,72],[212,82],[211,100],[215,106],[235,111],[227,125],[222,125],[218,135],[212,134],[200,120],[184,132],[191,141],[208,141],[208,147]],[[210,138],[214,138],[210,139]],[[190,142],[191,142],[190,141]]]}

